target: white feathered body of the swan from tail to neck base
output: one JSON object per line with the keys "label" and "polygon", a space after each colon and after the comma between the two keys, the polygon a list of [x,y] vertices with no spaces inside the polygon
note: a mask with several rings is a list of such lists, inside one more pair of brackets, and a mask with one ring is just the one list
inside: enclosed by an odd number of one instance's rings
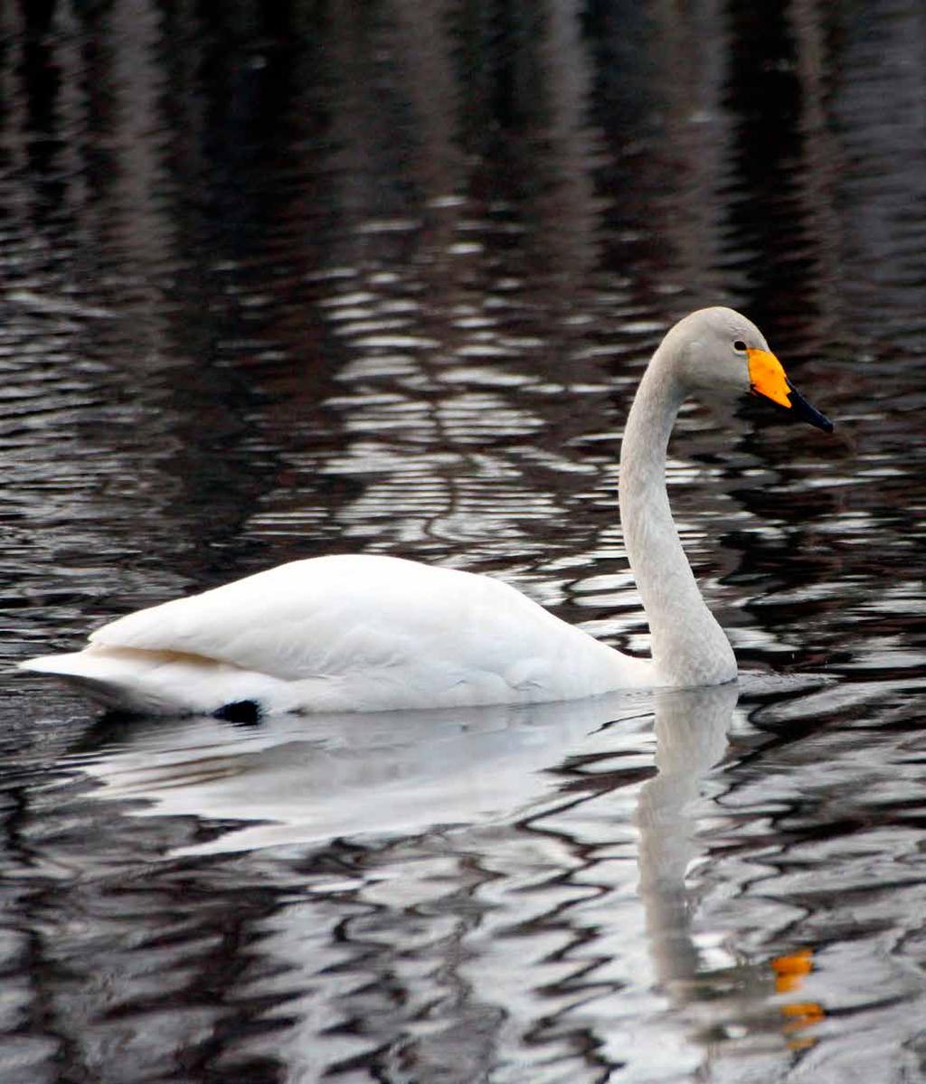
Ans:
{"label": "white feathered body of the swan from tail to neck base", "polygon": [[140,610],[30,669],[146,711],[366,711],[537,702],[648,668],[484,576],[395,557],[293,562]]}

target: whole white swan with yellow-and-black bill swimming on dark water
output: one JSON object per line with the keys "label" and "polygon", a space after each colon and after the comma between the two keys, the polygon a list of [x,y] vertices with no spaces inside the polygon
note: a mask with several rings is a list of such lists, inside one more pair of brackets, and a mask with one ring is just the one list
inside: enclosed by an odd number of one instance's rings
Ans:
{"label": "whole white swan with yellow-and-black bill swimming on dark water", "polygon": [[80,651],[20,666],[111,709],[227,718],[544,702],[733,681],[733,649],[672,521],[666,450],[689,396],[748,393],[833,430],[758,327],[726,308],[674,324],[634,397],[619,504],[651,659],[599,642],[500,580],[397,557],[332,555],[129,614],[93,632]]}

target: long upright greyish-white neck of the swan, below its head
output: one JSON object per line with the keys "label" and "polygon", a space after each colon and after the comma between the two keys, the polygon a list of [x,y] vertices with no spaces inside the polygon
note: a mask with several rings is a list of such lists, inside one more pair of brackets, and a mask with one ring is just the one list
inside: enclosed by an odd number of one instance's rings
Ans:
{"label": "long upright greyish-white neck of the swan, below its head", "polygon": [[666,450],[684,392],[666,361],[657,351],[627,421],[620,519],[659,683],[713,685],[736,676],[736,659],[700,596],[669,509]]}

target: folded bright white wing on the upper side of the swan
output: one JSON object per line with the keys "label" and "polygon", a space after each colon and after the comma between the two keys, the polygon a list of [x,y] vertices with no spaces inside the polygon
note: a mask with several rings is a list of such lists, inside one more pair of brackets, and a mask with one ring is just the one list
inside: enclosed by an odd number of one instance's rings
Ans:
{"label": "folded bright white wing on the upper side of the swan", "polygon": [[503,673],[589,637],[489,577],[396,557],[316,557],[139,610],[95,646],[182,651],[284,681],[420,666]]}

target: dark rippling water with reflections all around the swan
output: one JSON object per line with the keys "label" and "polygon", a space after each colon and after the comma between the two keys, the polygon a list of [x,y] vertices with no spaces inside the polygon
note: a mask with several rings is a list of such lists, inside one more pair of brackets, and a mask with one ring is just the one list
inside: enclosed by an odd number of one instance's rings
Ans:
{"label": "dark rippling water with reflections all around the swan", "polygon": [[[500,576],[645,649],[616,515],[665,327],[739,689],[378,719],[0,700],[0,1079],[926,1079],[923,14],[0,10],[5,661],[297,556]],[[735,701],[735,702],[734,702]]]}

